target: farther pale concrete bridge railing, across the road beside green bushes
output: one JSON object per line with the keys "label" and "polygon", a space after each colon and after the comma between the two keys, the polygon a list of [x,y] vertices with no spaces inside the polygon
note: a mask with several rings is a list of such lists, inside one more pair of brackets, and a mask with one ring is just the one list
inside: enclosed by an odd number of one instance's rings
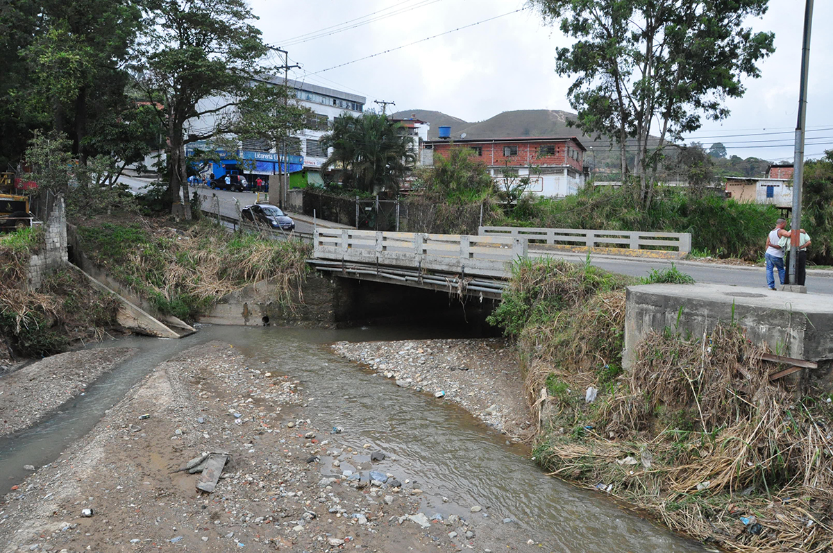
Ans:
{"label": "farther pale concrete bridge railing, across the road beside green bushes", "polygon": [[691,252],[691,234],[686,232],[601,231],[576,228],[480,227],[484,237],[521,238],[531,250],[550,247],[580,247],[613,250],[626,255],[684,257]]}

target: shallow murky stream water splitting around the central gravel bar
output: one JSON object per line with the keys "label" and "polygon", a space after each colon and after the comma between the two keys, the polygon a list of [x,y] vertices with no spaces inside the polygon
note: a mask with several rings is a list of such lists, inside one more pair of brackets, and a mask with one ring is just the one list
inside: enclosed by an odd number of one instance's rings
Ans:
{"label": "shallow murky stream water splitting around the central gravel bar", "polygon": [[[452,333],[453,334],[453,333]],[[339,442],[385,451],[395,460],[377,470],[416,482],[426,493],[423,511],[431,516],[487,513],[493,525],[518,525],[546,551],[704,551],[693,541],[625,511],[605,496],[544,475],[523,446],[476,421],[450,401],[397,387],[332,354],[333,341],[412,340],[450,336],[425,327],[387,326],[344,330],[277,327],[202,326],[178,341],[129,338],[101,346],[132,346],[139,353],[89,386],[57,415],[29,431],[0,440],[0,486],[19,482],[22,466],[51,462],[72,441],[92,429],[104,411],[137,381],[179,351],[209,340],[234,345],[252,368],[286,373],[302,383],[303,413],[324,434],[344,431]],[[323,436],[322,436],[323,438]],[[323,438],[326,439],[326,438]],[[326,473],[328,460],[322,461]],[[11,484],[8,484],[9,486]],[[471,506],[482,506],[473,514]]]}

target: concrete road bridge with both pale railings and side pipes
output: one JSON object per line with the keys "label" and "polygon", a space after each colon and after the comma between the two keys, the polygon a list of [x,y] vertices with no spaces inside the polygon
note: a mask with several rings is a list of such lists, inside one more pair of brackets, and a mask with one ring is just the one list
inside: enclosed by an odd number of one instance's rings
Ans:
{"label": "concrete road bridge with both pale railings and side pipes", "polygon": [[312,242],[310,263],[319,271],[491,299],[501,296],[518,259],[613,251],[679,258],[691,249],[687,234],[516,227],[481,227],[479,236],[319,228]]}

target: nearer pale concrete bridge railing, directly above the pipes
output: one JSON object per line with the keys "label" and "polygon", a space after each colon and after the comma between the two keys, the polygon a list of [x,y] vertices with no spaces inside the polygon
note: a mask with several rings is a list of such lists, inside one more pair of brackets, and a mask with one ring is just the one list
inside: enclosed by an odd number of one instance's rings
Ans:
{"label": "nearer pale concrete bridge railing, directly above the pipes", "polygon": [[512,262],[518,257],[526,257],[526,241],[518,237],[422,232],[319,228],[315,231],[313,247],[317,259],[501,278],[511,274]]}

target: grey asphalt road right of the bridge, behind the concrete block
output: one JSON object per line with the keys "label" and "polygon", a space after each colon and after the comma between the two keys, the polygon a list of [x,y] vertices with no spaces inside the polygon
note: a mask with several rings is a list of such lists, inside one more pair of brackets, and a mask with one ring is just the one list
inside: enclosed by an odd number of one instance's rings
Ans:
{"label": "grey asphalt road right of the bridge, behind the concrete block", "polygon": [[[583,263],[584,256],[564,254],[564,259]],[[671,261],[664,259],[632,259],[612,256],[591,257],[591,264],[606,271],[618,272],[631,277],[647,277],[653,269],[671,267]],[[766,276],[763,267],[735,267],[705,262],[674,262],[676,267],[694,277],[698,282],[710,284],[728,284],[736,286],[761,286],[766,288]],[[807,291],[815,294],[833,295],[833,272],[807,271]]]}

